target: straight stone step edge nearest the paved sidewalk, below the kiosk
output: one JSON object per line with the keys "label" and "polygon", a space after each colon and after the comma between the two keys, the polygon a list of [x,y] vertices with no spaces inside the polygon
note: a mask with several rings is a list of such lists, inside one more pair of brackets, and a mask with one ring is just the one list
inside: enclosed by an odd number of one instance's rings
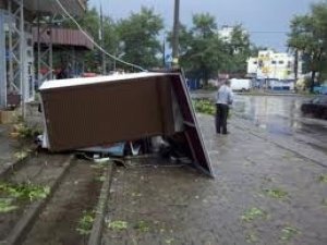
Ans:
{"label": "straight stone step edge nearest the paved sidewalk, below the kiosk", "polygon": [[106,180],[102,184],[99,201],[96,210],[96,218],[92,226],[90,235],[87,245],[100,245],[101,233],[105,221],[105,213],[107,209],[107,204],[110,195],[110,186],[113,173],[113,163],[110,163],[106,170]]}

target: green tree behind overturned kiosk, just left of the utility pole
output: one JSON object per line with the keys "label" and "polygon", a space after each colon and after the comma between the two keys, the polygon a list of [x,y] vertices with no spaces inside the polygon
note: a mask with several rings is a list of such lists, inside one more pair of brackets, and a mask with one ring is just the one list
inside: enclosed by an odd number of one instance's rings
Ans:
{"label": "green tree behind overturned kiosk, just left of the utility pole", "polygon": [[140,13],[121,20],[117,25],[122,59],[145,69],[161,64],[161,44],[158,35],[164,28],[160,15],[153,9],[142,8]]}

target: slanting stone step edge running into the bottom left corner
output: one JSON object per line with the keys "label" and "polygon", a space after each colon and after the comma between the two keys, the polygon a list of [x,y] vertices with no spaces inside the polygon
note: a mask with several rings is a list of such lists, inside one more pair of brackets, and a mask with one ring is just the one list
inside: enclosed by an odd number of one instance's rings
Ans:
{"label": "slanting stone step edge running into the bottom left corner", "polygon": [[50,186],[50,194],[45,199],[38,200],[32,205],[32,207],[25,212],[21,220],[15,224],[8,237],[4,241],[0,242],[1,245],[17,245],[23,241],[24,236],[31,230],[32,224],[36,220],[37,216],[41,212],[43,208],[51,199],[62,177],[70,169],[73,158],[74,156],[69,156],[65,162],[63,163],[63,169],[59,173],[57,180]]}

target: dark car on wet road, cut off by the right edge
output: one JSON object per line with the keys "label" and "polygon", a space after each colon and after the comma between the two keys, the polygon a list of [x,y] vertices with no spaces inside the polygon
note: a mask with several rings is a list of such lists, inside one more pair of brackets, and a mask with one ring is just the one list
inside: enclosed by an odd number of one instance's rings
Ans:
{"label": "dark car on wet road, cut off by the right edge", "polygon": [[315,97],[314,99],[302,103],[301,111],[304,114],[327,120],[327,95]]}

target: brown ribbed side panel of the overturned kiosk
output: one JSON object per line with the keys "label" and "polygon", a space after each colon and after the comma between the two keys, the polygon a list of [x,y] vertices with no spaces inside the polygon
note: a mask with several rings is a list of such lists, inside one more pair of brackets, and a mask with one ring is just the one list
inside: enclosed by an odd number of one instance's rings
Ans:
{"label": "brown ribbed side panel of the overturned kiosk", "polygon": [[172,134],[170,90],[165,77],[41,90],[50,150]]}

